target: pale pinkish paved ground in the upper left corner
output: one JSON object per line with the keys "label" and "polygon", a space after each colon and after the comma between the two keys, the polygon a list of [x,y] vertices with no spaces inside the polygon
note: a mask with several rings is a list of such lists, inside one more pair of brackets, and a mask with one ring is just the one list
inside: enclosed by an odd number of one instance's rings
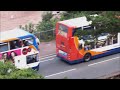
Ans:
{"label": "pale pinkish paved ground in the upper left corner", "polygon": [[0,11],[0,31],[7,31],[26,24],[42,21],[44,11]]}

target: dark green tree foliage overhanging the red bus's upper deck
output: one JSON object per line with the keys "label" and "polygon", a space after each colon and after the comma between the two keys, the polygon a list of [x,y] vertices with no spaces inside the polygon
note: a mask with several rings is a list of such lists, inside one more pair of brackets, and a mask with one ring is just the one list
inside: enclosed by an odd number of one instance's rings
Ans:
{"label": "dark green tree foliage overhanging the red bus's upper deck", "polygon": [[[75,14],[75,12],[70,13]],[[79,38],[83,35],[92,35],[96,38],[100,33],[110,33],[111,35],[115,35],[120,32],[120,19],[118,18],[120,17],[120,11],[81,11],[79,14],[86,16],[88,21],[92,21],[91,26],[96,27],[95,30],[87,31],[78,29],[74,35]],[[97,16],[92,14],[97,14]]]}

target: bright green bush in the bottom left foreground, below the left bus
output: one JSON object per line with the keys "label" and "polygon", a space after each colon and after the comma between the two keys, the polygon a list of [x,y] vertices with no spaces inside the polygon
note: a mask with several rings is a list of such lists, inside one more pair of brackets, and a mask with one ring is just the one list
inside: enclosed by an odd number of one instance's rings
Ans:
{"label": "bright green bush in the bottom left foreground, below the left bus", "polygon": [[0,62],[0,79],[44,79],[44,77],[31,68],[17,69],[11,62]]}

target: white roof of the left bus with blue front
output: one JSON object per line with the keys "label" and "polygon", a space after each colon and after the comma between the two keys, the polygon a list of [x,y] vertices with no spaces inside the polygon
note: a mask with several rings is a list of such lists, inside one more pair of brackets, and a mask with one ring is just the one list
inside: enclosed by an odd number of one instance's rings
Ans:
{"label": "white roof of the left bus with blue front", "polygon": [[26,35],[32,35],[32,34],[19,28],[3,31],[0,32],[0,42],[4,42],[6,40],[11,40],[11,39],[17,39],[18,37],[23,37]]}

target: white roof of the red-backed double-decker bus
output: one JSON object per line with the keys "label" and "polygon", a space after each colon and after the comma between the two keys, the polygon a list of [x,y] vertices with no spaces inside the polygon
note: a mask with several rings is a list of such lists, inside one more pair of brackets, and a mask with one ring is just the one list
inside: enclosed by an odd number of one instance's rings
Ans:
{"label": "white roof of the red-backed double-decker bus", "polygon": [[87,18],[85,16],[79,17],[79,18],[73,18],[69,20],[64,20],[64,21],[59,21],[58,23],[67,25],[69,27],[83,27],[83,26],[88,26],[92,23],[92,21],[87,21]]}

